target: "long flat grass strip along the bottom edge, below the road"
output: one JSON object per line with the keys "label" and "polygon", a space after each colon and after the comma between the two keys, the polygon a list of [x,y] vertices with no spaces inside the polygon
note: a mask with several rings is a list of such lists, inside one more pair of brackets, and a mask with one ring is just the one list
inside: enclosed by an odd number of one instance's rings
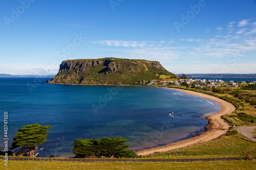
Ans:
{"label": "long flat grass strip along the bottom edge, below the road", "polygon": [[255,169],[256,161],[216,161],[179,163],[108,163],[108,162],[58,162],[58,161],[9,161],[0,169]]}

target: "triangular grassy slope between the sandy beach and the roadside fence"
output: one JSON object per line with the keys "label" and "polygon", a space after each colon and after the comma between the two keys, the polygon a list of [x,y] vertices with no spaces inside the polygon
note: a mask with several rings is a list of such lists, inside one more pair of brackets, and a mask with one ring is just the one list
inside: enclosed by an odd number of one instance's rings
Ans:
{"label": "triangular grassy slope between the sandy beach and the roadside fence", "polygon": [[256,142],[238,133],[230,136],[223,135],[216,140],[169,151],[164,154],[156,154],[154,158],[221,158],[244,157],[247,154],[256,156]]}

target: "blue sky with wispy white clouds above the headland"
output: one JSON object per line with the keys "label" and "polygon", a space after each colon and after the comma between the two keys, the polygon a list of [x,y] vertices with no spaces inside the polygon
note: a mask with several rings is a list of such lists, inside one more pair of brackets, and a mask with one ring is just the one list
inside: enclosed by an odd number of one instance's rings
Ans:
{"label": "blue sky with wispy white clouds above the headland", "polygon": [[256,73],[253,0],[0,2],[2,74],[105,57],[160,61],[175,74]]}

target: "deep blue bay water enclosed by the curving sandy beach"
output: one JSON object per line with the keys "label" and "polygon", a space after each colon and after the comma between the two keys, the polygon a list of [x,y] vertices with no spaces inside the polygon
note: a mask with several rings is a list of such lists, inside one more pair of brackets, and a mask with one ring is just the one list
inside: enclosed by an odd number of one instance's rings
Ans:
{"label": "deep blue bay water enclosed by the curving sandy beach", "polygon": [[203,132],[203,116],[220,110],[214,101],[176,90],[44,84],[50,79],[0,78],[1,117],[4,120],[8,112],[9,146],[25,125],[52,126],[47,142],[39,146],[39,157],[73,157],[72,141],[78,138],[121,136],[129,139],[132,150],[176,142]]}

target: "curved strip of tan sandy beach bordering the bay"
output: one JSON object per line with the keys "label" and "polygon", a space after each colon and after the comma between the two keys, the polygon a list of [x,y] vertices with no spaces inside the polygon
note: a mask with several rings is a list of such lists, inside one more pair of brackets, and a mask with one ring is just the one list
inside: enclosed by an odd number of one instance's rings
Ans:
{"label": "curved strip of tan sandy beach bordering the bay", "polygon": [[185,139],[182,141],[178,141],[175,143],[170,143],[170,144],[166,144],[166,145],[163,145],[160,147],[136,151],[136,153],[138,155],[150,155],[150,154],[154,154],[155,152],[166,152],[166,151],[170,151],[170,150],[184,148],[189,145],[203,143],[203,142],[206,142],[206,141],[209,141],[212,139],[216,139],[228,131],[230,126],[224,121],[224,119],[221,118],[221,116],[226,113],[231,113],[236,110],[236,107],[234,107],[231,103],[226,102],[222,99],[219,99],[215,96],[211,96],[208,94],[203,94],[203,93],[199,93],[199,92],[195,92],[195,91],[177,89],[177,88],[168,88],[168,87],[163,87],[163,88],[179,90],[179,91],[185,92],[187,94],[196,95],[196,96],[200,96],[203,98],[207,98],[207,99],[216,101],[220,104],[222,109],[217,113],[205,116],[205,118],[208,120],[208,125],[205,126],[205,131],[203,133],[200,133],[196,136],[193,136],[191,138],[188,138],[188,139]]}

